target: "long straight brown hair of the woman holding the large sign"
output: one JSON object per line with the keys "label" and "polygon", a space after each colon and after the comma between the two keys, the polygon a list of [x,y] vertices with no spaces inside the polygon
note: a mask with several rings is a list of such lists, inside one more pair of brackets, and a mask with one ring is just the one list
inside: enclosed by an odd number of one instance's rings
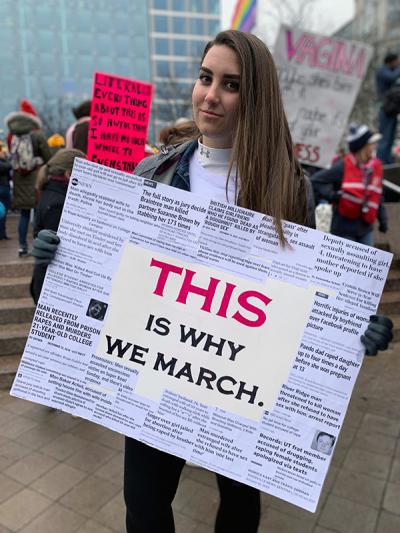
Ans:
{"label": "long straight brown hair of the woman holding the large sign", "polygon": [[218,45],[234,50],[240,65],[238,124],[229,169],[230,173],[236,164],[238,205],[271,215],[284,245],[282,220],[306,224],[307,193],[294,155],[275,63],[260,39],[236,30],[222,31],[209,42],[201,62],[210,48]]}

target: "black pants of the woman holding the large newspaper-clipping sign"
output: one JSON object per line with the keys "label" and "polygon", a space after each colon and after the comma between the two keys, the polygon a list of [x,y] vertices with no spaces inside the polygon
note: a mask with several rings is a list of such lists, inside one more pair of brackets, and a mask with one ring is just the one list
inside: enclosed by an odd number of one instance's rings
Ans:
{"label": "black pants of the woman holding the large newspaper-clipping sign", "polygon": [[[172,501],[184,459],[125,439],[124,496],[127,533],[174,533]],[[221,502],[216,533],[256,533],[260,521],[257,489],[217,474]]]}

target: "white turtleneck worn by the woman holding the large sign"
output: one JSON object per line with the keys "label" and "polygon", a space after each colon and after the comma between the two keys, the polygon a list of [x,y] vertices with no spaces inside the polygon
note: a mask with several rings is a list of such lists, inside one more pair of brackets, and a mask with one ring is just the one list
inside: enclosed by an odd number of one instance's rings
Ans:
{"label": "white turtleneck worn by the woman holding the large sign", "polygon": [[189,165],[191,192],[219,202],[236,203],[235,168],[231,171],[226,197],[226,176],[231,153],[231,148],[208,148],[199,141]]}

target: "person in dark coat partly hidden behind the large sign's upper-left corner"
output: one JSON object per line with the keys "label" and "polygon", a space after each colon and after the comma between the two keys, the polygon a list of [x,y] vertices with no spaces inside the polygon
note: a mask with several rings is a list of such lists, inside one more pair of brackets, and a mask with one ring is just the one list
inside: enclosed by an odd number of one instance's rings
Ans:
{"label": "person in dark coat partly hidden behind the large sign's upper-left corner", "polygon": [[[80,150],[61,149],[39,170],[36,182],[39,201],[35,213],[34,237],[42,229],[57,231],[76,157],[86,159],[86,155]],[[46,265],[35,263],[31,281],[31,295],[35,304],[39,300],[46,270]]]}

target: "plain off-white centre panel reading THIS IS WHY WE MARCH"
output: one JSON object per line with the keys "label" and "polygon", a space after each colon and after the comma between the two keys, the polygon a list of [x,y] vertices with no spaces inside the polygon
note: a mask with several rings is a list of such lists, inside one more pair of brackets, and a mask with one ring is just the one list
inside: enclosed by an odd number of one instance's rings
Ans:
{"label": "plain off-white centre panel reading THIS IS WHY WE MARCH", "polygon": [[152,401],[169,389],[258,421],[288,377],[314,292],[127,243],[97,354],[140,370],[136,392]]}

